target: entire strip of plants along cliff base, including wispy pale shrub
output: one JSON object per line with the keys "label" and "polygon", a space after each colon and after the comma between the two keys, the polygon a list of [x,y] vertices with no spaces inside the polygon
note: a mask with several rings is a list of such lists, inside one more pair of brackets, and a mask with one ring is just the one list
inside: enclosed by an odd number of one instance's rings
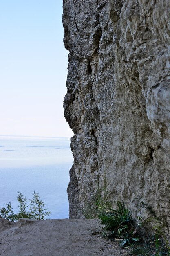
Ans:
{"label": "entire strip of plants along cliff base, including wispy pale shrub", "polygon": [[[139,202],[138,223],[121,200],[115,203],[115,209],[106,189],[98,190],[82,209],[85,218],[100,218],[104,224],[102,236],[117,239],[121,247],[126,247],[128,256],[170,256],[169,241],[164,234],[166,225],[155,215],[154,211]],[[142,216],[146,210],[147,220]]]}

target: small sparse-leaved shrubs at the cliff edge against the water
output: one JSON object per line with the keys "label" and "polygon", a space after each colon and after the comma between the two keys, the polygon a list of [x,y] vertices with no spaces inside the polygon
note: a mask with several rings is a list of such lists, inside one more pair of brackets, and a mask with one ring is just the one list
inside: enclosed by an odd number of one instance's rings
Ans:
{"label": "small sparse-leaved shrubs at the cliff edge against the water", "polygon": [[[44,209],[44,202],[40,199],[40,196],[35,191],[33,192],[32,199],[29,199],[29,209],[27,206],[26,197],[18,191],[17,201],[19,203],[19,212],[14,213],[11,203],[6,204],[7,207],[0,208],[0,214],[2,218],[10,221],[17,221],[19,218],[29,218],[36,220],[44,220],[45,216],[50,215],[50,211]],[[28,210],[27,210],[28,209]]]}

